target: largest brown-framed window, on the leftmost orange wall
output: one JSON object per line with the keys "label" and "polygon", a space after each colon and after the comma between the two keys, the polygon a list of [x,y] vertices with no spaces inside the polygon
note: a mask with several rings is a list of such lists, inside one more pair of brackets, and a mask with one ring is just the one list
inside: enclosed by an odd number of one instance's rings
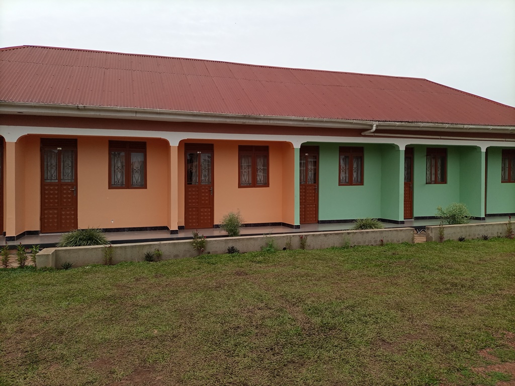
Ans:
{"label": "largest brown-framed window, on the leftmost orange wall", "polygon": [[109,141],[109,188],[146,188],[146,157],[145,142]]}

